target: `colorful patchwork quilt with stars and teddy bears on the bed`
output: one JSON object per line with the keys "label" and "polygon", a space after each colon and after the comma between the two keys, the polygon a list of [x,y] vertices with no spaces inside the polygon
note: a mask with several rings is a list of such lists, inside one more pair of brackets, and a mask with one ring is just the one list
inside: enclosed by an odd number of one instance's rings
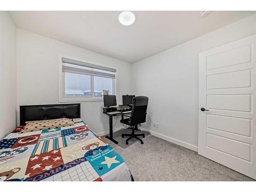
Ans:
{"label": "colorful patchwork quilt with stars and teddy bears on the bed", "polygon": [[122,157],[81,119],[0,141],[0,181],[133,181]]}

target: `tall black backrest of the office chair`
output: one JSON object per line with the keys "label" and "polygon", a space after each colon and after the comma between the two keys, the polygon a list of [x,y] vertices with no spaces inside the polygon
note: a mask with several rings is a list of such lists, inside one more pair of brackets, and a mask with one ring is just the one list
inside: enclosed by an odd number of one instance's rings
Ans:
{"label": "tall black backrest of the office chair", "polygon": [[132,125],[146,122],[147,103],[148,97],[136,96],[133,98],[133,108],[130,118]]}

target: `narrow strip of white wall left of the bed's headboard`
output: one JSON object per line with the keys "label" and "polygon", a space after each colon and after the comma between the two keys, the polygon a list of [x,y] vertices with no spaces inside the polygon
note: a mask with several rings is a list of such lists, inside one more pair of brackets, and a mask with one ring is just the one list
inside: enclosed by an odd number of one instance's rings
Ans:
{"label": "narrow strip of white wall left of the bed's headboard", "polygon": [[7,11],[0,11],[0,140],[15,128],[16,26]]}

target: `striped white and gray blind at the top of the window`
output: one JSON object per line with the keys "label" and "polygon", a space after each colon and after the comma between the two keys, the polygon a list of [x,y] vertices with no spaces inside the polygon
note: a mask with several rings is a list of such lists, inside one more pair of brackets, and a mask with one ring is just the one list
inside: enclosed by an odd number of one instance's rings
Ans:
{"label": "striped white and gray blind at the top of the window", "polygon": [[116,78],[116,69],[62,57],[62,72]]}

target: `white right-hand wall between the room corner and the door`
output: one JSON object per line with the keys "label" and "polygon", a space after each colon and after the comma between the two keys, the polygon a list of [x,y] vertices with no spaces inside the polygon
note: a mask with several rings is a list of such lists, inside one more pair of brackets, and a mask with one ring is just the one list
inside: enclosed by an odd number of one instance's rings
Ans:
{"label": "white right-hand wall between the room corner and the door", "polygon": [[[149,97],[147,121],[142,127],[197,150],[198,54],[255,33],[256,15],[252,15],[133,63],[133,92]],[[160,123],[160,128],[153,122]]]}

